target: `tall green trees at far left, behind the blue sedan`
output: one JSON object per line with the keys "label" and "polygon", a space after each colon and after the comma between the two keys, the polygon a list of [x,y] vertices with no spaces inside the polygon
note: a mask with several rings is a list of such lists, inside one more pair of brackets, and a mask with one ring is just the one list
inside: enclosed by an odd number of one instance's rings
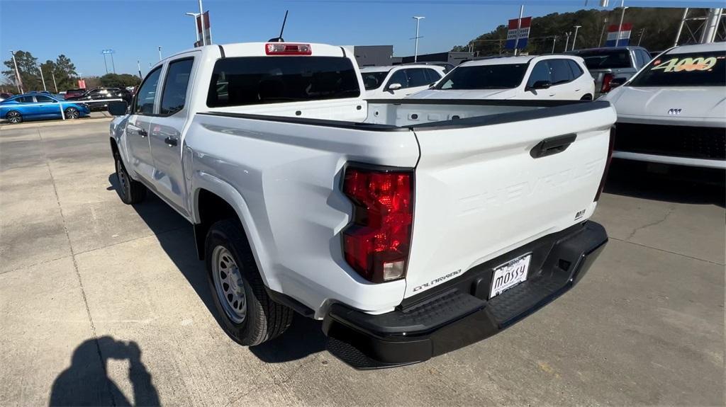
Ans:
{"label": "tall green trees at far left, behind the blue sedan", "polygon": [[[38,59],[30,52],[16,51],[15,60],[25,92],[43,90],[40,70],[43,70],[43,77],[48,91],[55,91],[53,76],[55,76],[58,91],[76,88],[76,77],[78,76],[76,67],[65,55],[59,55],[55,61],[48,59],[46,62],[38,64]],[[12,57],[4,61],[3,64],[7,67],[7,70],[2,71],[6,82],[15,85],[15,65],[12,62]],[[17,91],[17,88],[15,91]]]}

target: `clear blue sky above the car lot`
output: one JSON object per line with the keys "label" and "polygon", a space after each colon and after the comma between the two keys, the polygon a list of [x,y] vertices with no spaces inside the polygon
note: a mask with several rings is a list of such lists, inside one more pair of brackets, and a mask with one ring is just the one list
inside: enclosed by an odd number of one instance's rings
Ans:
{"label": "clear blue sky above the car lot", "polygon": [[[280,33],[285,10],[285,41],[334,45],[393,45],[396,56],[412,55],[416,21],[419,53],[449,51],[519,14],[538,17],[573,12],[584,0],[203,0],[213,43],[266,41]],[[620,0],[610,0],[609,9]],[[723,1],[625,0],[629,7],[723,7]],[[587,1],[600,9],[600,0]],[[192,48],[197,0],[0,0],[0,60],[11,50],[30,51],[38,62],[65,54],[83,76],[106,72],[102,49],[113,49],[117,73],[142,73],[163,56]],[[626,19],[627,20],[627,19]],[[111,60],[107,59],[112,71]]]}

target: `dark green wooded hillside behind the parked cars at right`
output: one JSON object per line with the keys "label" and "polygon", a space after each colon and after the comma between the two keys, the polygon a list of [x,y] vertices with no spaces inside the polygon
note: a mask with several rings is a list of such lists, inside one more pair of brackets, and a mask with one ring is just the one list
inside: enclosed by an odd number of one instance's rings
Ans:
{"label": "dark green wooded hillside behind the parked cars at right", "polygon": [[[621,9],[614,10],[579,10],[568,13],[552,13],[532,19],[529,42],[524,52],[529,54],[549,54],[552,52],[554,41],[555,52],[563,52],[566,43],[566,33],[574,34],[574,26],[581,25],[577,32],[576,49],[604,46],[607,36],[607,26],[617,25],[620,22]],[[678,23],[682,17],[683,9],[674,8],[643,8],[629,7],[625,12],[624,23],[633,25],[630,35],[630,44],[640,45],[649,51],[663,51],[673,46]],[[706,9],[691,9],[689,17],[706,14]],[[686,28],[680,43],[690,42]],[[556,39],[555,39],[556,36]],[[505,42],[507,27],[499,27],[489,33],[479,35],[465,46],[454,46],[452,51],[469,51],[473,49],[478,56],[507,54]],[[572,46],[574,36],[570,36],[569,47]]]}

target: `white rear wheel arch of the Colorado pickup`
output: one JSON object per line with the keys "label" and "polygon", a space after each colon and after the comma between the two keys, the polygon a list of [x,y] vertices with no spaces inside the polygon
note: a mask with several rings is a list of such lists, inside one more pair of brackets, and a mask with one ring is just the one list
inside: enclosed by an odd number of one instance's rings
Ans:
{"label": "white rear wheel arch of the Colorado pickup", "polygon": [[[209,174],[201,176],[202,185],[198,185],[192,192],[192,219],[194,226],[195,246],[197,256],[204,259],[204,244],[207,232],[214,222],[234,217],[240,222],[242,230],[247,237],[248,245],[253,253],[257,268],[262,280],[268,288],[280,290],[280,284],[270,276],[269,256],[262,244],[261,237],[250,209],[240,194],[232,185]],[[195,178],[196,181],[199,178]]]}

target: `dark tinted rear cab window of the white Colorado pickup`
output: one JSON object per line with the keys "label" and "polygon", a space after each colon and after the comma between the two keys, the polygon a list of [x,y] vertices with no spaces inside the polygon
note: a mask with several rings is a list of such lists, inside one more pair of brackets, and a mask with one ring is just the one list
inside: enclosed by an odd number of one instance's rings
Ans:
{"label": "dark tinted rear cab window of the white Colorado pickup", "polygon": [[217,60],[208,107],[357,98],[356,70],[340,56],[240,56]]}

